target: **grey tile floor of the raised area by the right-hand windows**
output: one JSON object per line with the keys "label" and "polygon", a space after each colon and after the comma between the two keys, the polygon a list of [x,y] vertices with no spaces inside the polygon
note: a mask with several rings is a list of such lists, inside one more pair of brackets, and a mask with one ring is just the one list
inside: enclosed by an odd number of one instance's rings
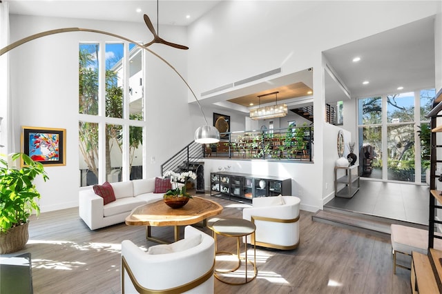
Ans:
{"label": "grey tile floor of the raised area by the right-hand windows", "polygon": [[414,184],[361,179],[361,188],[350,199],[334,197],[325,206],[358,213],[428,224],[430,188]]}

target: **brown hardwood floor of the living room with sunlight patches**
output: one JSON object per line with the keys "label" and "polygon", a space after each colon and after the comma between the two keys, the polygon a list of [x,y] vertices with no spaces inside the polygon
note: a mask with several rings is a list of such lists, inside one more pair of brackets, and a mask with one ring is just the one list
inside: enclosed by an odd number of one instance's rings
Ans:
{"label": "brown hardwood floor of the living room with sunlight patches", "polygon": [[[242,217],[242,204],[210,196],[224,217]],[[300,246],[294,251],[257,248],[258,277],[242,286],[215,280],[215,293],[410,293],[410,271],[392,271],[389,239],[312,222],[301,211]],[[208,228],[200,228],[211,234]],[[182,232],[181,232],[182,233]],[[173,239],[173,228],[153,228]],[[77,208],[41,213],[30,222],[23,251],[32,255],[34,293],[120,293],[120,249],[124,239],[142,248],[142,226],[117,224],[90,231]],[[235,238],[218,239],[218,249],[234,251]],[[249,247],[249,252],[251,247]],[[7,255],[2,255],[7,256]]]}

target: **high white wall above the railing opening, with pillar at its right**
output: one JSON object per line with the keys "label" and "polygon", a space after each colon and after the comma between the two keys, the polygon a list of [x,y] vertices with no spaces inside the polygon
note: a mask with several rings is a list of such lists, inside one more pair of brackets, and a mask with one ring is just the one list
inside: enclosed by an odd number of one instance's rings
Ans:
{"label": "high white wall above the railing opening, with pillar at its right", "polygon": [[336,137],[328,141],[325,135],[321,52],[428,17],[435,10],[434,1],[222,1],[189,27],[189,46],[195,48],[189,50],[189,81],[197,92],[204,92],[274,68],[282,71],[271,78],[313,68],[314,164],[308,171],[293,164],[291,175],[308,191],[302,201],[322,208],[323,195],[331,192],[330,184],[325,190],[325,180],[333,177],[323,149]]}

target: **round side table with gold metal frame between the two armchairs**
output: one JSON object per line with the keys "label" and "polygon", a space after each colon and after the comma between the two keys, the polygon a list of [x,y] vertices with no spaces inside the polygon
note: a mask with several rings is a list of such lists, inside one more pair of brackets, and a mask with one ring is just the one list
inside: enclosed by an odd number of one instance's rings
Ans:
{"label": "round side table with gold metal frame between the two armchairs", "polygon": [[[252,281],[256,278],[256,275],[258,274],[258,269],[256,268],[256,245],[255,245],[255,230],[256,226],[252,222],[248,221],[247,219],[233,219],[233,218],[227,218],[227,219],[220,219],[217,222],[214,222],[212,224],[211,230],[215,233],[213,235],[213,239],[215,239],[215,248],[218,248],[217,246],[217,235],[223,235],[226,237],[237,237],[237,245],[236,245],[236,255],[238,257],[238,266],[236,268],[233,268],[228,271],[220,271],[215,268],[215,277],[220,280],[223,283],[231,284],[231,285],[241,285],[241,284],[247,284],[248,282]],[[226,280],[223,280],[218,273],[234,273],[238,270],[241,266],[241,257],[240,257],[240,238],[245,237],[247,235],[253,235],[253,262],[248,259],[247,256],[247,243],[244,243],[244,262],[245,262],[245,281],[240,283],[233,283],[228,282]],[[222,252],[217,251],[215,249],[215,255],[219,254],[232,254],[228,252]],[[216,259],[216,258],[215,258]],[[249,278],[247,277],[247,264],[253,265],[253,277]]]}

